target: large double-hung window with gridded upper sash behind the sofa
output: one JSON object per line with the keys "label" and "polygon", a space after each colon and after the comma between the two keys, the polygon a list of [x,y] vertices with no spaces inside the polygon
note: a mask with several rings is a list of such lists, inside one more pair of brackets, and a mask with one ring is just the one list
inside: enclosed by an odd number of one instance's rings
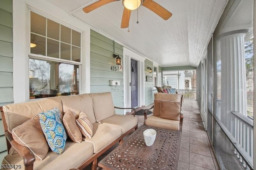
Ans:
{"label": "large double-hung window with gridded upper sash behind the sofa", "polygon": [[30,99],[79,94],[81,33],[30,12]]}

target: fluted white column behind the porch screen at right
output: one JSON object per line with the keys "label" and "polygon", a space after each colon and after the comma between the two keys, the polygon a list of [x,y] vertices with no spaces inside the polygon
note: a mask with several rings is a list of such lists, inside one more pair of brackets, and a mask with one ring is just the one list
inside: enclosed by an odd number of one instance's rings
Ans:
{"label": "fluted white column behind the porch screen at right", "polygon": [[231,131],[231,111],[247,116],[244,58],[244,36],[247,32],[248,30],[236,30],[225,33],[220,38],[221,120]]}

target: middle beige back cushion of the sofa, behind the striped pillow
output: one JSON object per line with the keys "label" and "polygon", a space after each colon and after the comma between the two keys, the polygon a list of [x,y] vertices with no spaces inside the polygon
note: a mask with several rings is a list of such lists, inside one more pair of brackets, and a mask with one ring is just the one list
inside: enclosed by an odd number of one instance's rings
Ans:
{"label": "middle beige back cushion of the sofa, behind the striped pillow", "polygon": [[74,117],[78,119],[80,112],[86,113],[92,123],[96,122],[92,107],[92,97],[89,94],[61,96],[64,114],[70,109]]}

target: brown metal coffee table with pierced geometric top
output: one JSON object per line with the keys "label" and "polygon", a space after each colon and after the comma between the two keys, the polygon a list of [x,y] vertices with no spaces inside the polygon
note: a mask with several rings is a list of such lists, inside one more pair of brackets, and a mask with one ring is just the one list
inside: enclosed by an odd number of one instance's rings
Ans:
{"label": "brown metal coffee table with pierced geometric top", "polygon": [[[146,146],[143,138],[143,131],[148,128],[156,130],[152,146]],[[106,170],[175,170],[180,140],[180,131],[142,125],[103,158],[98,166]]]}

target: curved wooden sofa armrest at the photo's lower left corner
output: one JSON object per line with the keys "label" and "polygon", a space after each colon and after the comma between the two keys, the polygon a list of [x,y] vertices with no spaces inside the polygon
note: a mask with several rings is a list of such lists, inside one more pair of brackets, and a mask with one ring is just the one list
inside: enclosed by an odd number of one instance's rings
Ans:
{"label": "curved wooden sofa armrest at the photo's lower left corner", "polygon": [[12,145],[12,147],[20,154],[20,156],[22,156],[25,169],[26,170],[33,169],[33,164],[36,158],[34,154],[30,151],[30,149],[15,142],[10,132],[6,131],[5,136],[6,136],[6,139]]}

